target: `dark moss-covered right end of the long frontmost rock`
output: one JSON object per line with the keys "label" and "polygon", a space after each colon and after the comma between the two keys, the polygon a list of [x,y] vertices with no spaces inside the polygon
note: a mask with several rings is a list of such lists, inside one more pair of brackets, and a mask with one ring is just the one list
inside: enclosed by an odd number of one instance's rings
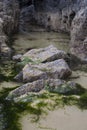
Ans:
{"label": "dark moss-covered right end of the long frontmost rock", "polygon": [[49,92],[64,94],[64,95],[81,95],[85,92],[85,89],[79,84],[69,81],[59,86],[45,86],[45,89]]}

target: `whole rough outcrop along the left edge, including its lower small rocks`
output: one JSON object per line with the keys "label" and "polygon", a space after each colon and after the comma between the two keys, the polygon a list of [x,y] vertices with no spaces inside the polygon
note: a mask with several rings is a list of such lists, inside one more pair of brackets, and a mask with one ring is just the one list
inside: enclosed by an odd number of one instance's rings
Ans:
{"label": "whole rough outcrop along the left edge, including its lower small rocks", "polygon": [[[19,3],[17,0],[0,1],[0,52],[4,56],[11,54],[7,46],[8,39],[18,30]],[[9,38],[8,38],[9,37]]]}

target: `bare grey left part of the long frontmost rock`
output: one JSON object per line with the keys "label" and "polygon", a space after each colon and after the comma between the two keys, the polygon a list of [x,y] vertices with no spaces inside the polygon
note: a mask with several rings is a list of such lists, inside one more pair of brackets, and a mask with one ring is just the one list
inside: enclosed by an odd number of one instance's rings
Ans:
{"label": "bare grey left part of the long frontmost rock", "polygon": [[19,97],[24,94],[28,94],[30,92],[39,92],[41,91],[45,86],[44,80],[37,80],[32,83],[24,84],[23,86],[18,87],[17,89],[10,92],[7,99],[11,99],[14,97]]}

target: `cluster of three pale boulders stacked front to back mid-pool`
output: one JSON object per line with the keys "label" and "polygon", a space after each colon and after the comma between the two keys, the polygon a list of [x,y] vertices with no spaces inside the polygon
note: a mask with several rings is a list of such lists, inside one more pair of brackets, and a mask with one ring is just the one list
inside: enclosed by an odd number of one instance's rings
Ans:
{"label": "cluster of three pale boulders stacked front to back mid-pool", "polygon": [[[73,81],[66,81],[72,74],[65,59],[68,55],[53,45],[46,48],[32,49],[24,55],[13,57],[15,61],[27,62],[21,72],[14,78],[23,85],[11,91],[8,98],[39,93],[42,90],[59,94],[79,94],[80,85]],[[79,86],[79,87],[78,87]]]}

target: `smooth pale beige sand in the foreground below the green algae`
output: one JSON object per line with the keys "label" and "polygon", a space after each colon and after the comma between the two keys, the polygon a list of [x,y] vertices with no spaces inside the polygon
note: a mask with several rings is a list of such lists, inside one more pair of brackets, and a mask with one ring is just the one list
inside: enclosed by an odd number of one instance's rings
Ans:
{"label": "smooth pale beige sand in the foreground below the green algae", "polygon": [[87,130],[87,110],[66,107],[49,112],[39,123],[31,123],[30,115],[21,119],[22,130]]}

